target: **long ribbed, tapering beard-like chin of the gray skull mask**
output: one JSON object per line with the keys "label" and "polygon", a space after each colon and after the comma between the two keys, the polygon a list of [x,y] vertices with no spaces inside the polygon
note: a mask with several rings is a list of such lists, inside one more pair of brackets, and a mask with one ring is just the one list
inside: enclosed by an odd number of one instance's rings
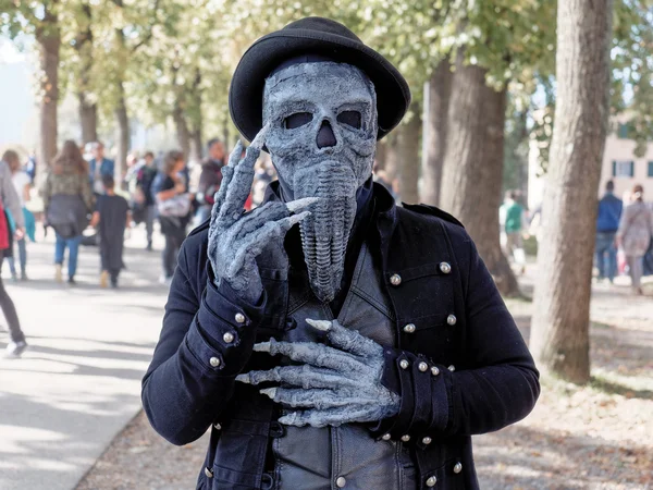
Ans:
{"label": "long ribbed, tapering beard-like chin of the gray skull mask", "polygon": [[345,253],[356,217],[356,175],[348,166],[324,161],[294,175],[295,198],[318,197],[299,223],[308,278],[323,303],[337,294],[345,267]]}

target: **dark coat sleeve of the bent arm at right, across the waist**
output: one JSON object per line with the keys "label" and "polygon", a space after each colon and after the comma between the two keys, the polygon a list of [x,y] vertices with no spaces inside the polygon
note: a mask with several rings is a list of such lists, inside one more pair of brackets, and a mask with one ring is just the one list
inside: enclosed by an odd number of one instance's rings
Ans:
{"label": "dark coat sleeve of the bent arm at right, across the waist", "polygon": [[[401,394],[402,406],[374,428],[378,434],[491,432],[526,417],[538,400],[539,372],[475,244],[464,233],[454,249],[465,296],[467,367],[452,372],[438,359],[386,350],[383,382]],[[420,369],[422,362],[428,369]]]}

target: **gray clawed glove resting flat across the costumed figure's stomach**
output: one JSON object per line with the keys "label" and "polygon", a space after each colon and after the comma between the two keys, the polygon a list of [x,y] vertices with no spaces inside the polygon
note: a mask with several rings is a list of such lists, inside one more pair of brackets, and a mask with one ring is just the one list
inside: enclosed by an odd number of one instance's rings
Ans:
{"label": "gray clawed glove resting flat across the costumed figure's stomach", "polygon": [[269,388],[261,393],[291,407],[308,408],[291,412],[279,419],[288,426],[340,426],[349,422],[377,421],[399,411],[399,396],[381,384],[383,347],[336,320],[306,320],[326,331],[333,347],[311,342],[263,342],[255,351],[284,355],[303,366],[280,366],[268,371],[250,371],[236,381],[258,384],[282,382],[299,388]]}

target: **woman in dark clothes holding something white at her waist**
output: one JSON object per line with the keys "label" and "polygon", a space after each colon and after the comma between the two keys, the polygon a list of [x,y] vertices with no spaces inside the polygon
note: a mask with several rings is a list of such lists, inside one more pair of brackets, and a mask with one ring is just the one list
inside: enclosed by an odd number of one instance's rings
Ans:
{"label": "woman in dark clothes holding something white at her waist", "polygon": [[165,237],[163,248],[163,277],[161,282],[170,284],[176,267],[176,257],[186,238],[186,226],[190,220],[190,196],[181,176],[186,167],[181,151],[169,151],[163,160],[163,174],[157,186],[157,207],[161,233]]}

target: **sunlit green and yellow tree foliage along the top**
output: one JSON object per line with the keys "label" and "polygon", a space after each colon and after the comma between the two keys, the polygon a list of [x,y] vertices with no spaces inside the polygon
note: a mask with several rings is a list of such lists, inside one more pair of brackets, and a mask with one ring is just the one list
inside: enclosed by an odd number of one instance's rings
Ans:
{"label": "sunlit green and yellow tree foliage along the top", "polygon": [[[653,137],[653,0],[615,0],[612,109],[639,143]],[[222,134],[227,90],[260,36],[309,15],[343,22],[389,58],[419,101],[443,57],[464,56],[508,84],[507,158],[522,158],[522,124],[547,160],[555,105],[555,4],[549,0],[0,0],[4,35],[61,27],[61,87],[83,90],[112,119],[124,90],[132,115]],[[45,22],[44,12],[58,16]],[[122,87],[122,88],[121,88]],[[544,102],[542,101],[544,100]],[[512,122],[521,121],[519,128]],[[231,127],[233,131],[233,127]],[[525,143],[526,142],[526,143]],[[513,162],[515,163],[515,162]],[[545,170],[545,169],[543,169]]]}

